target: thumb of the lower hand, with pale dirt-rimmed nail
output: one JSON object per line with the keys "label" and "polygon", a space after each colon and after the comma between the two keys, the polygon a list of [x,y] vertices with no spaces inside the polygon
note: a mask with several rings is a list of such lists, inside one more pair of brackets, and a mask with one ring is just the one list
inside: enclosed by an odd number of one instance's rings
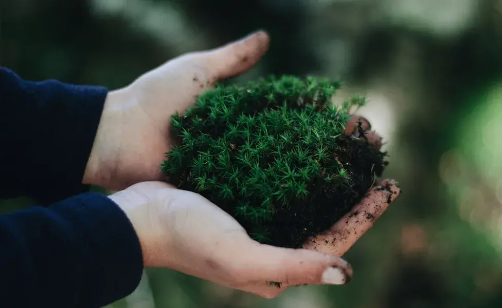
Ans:
{"label": "thumb of the lower hand, with pale dirt-rimmed nail", "polygon": [[[352,278],[352,267],[345,260],[307,249],[289,249],[257,245],[247,256],[260,256],[242,264],[253,264],[246,276],[252,281],[275,281],[286,285],[346,284]],[[244,261],[244,260],[243,260]]]}

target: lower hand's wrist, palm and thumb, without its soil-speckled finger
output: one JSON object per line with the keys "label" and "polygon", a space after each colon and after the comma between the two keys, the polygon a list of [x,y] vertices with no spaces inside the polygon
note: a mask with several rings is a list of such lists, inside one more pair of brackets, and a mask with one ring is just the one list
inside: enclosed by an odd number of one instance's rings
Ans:
{"label": "lower hand's wrist, palm and thumb, without its soil-speckled finger", "polygon": [[218,206],[163,182],[138,183],[110,198],[131,220],[145,266],[242,290],[266,281],[344,284],[352,275],[338,257],[260,244]]}

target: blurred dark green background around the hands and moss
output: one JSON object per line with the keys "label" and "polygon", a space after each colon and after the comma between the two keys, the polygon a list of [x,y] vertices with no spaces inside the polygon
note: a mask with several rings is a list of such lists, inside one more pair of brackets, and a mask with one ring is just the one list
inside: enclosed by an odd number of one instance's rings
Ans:
{"label": "blurred dark green background around the hands and moss", "polygon": [[111,89],[264,28],[270,52],[240,79],[340,77],[335,100],[367,95],[386,140],[403,193],[345,255],[349,285],[264,300],[147,269],[110,308],[502,306],[502,1],[2,0],[0,25],[0,65]]}

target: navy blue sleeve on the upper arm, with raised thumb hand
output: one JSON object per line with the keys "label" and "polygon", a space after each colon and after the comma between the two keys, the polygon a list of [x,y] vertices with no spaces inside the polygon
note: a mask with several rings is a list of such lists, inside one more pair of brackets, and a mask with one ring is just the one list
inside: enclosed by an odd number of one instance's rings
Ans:
{"label": "navy blue sleeve on the upper arm, with raised thumb hand", "polygon": [[0,198],[47,205],[86,191],[106,95],[103,87],[25,81],[0,67]]}

